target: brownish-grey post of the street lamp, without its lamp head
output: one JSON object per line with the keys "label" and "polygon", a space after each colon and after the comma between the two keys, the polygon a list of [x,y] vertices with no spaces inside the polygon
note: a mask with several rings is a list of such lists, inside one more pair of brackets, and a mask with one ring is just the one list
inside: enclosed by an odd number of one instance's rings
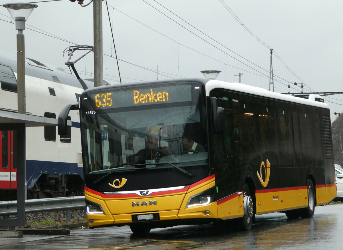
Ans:
{"label": "brownish-grey post of the street lamp, without its lamp head", "polygon": [[25,101],[25,41],[23,30],[18,30],[17,34],[17,94],[18,94],[18,113],[26,114]]}

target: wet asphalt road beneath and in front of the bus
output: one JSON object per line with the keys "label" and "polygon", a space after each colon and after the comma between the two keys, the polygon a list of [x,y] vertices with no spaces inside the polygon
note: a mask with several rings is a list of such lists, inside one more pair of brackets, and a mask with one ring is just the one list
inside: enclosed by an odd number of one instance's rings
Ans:
{"label": "wet asphalt road beneath and in front of the bus", "polygon": [[256,216],[248,232],[206,226],[152,229],[134,237],[129,227],[74,229],[69,236],[0,239],[0,249],[333,249],[343,248],[343,204],[316,207],[313,218],[287,220],[284,213]]}

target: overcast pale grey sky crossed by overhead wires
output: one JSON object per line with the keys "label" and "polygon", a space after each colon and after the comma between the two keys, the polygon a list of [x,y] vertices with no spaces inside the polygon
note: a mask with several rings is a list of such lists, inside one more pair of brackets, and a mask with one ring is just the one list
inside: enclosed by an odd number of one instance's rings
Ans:
{"label": "overcast pale grey sky crossed by overhead wires", "polygon": [[[0,0],[0,4],[10,2],[34,1]],[[107,3],[109,16],[106,1],[102,5],[104,80],[112,84],[118,83],[119,74],[109,20],[113,24],[124,83],[202,78],[201,70],[215,69],[222,71],[217,80],[238,82],[235,75],[243,73],[242,83],[268,90],[272,48],[276,52],[273,56],[276,92],[288,92],[288,82],[304,83],[306,92],[343,91],[343,1],[107,0]],[[64,49],[76,44],[93,45],[93,3],[85,8],[69,0],[36,4],[38,8],[32,12],[24,31],[26,57],[65,67]],[[15,56],[17,31],[3,7],[0,7],[0,34],[0,51]],[[79,56],[81,52],[72,59]],[[82,78],[93,77],[93,54],[75,67]],[[292,85],[292,88],[291,92],[300,92],[300,87]],[[331,113],[343,113],[343,106],[338,105],[343,104],[342,99],[343,95],[325,98]],[[334,119],[332,115],[331,120]]]}

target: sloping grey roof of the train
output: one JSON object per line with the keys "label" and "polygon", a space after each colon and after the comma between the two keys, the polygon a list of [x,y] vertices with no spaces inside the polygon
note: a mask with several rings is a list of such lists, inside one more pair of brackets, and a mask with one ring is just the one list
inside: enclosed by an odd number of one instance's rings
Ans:
{"label": "sloping grey roof of the train", "polygon": [[[9,66],[13,72],[17,72],[16,58],[7,52],[0,52],[0,64]],[[67,68],[42,63],[32,58],[25,58],[25,75],[82,88],[79,80]],[[84,82],[88,88],[94,87],[94,83],[89,79]]]}

